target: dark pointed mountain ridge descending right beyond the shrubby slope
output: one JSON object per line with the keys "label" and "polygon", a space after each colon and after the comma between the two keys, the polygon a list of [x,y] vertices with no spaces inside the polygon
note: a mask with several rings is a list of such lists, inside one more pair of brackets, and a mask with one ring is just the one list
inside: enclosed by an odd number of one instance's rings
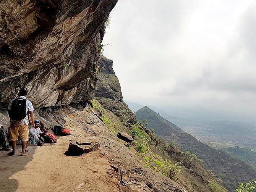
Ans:
{"label": "dark pointed mountain ridge descending right beyond the shrubby slope", "polygon": [[256,176],[256,172],[251,166],[199,142],[148,107],[138,110],[136,118],[138,120],[147,119],[147,128],[154,129],[156,134],[165,140],[175,140],[180,147],[203,159],[207,168],[214,170],[216,176],[224,182],[223,184],[228,190],[232,191],[238,182],[249,181]]}

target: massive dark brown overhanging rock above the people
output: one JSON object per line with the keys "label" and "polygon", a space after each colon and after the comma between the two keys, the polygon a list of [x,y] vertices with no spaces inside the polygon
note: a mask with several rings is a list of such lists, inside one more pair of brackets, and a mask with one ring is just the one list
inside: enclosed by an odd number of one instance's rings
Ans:
{"label": "massive dark brown overhanging rock above the people", "polygon": [[[0,103],[28,90],[36,108],[94,96],[105,21],[117,0],[0,2]],[[69,65],[67,67],[67,65]]]}

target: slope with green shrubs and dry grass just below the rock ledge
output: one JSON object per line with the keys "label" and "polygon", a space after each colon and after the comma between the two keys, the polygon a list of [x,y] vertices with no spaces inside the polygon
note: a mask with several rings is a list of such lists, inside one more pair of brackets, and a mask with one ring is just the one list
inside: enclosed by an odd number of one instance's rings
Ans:
{"label": "slope with green shrubs and dry grass just below the rock ledge", "polygon": [[[148,132],[149,130],[139,122],[127,127],[126,123],[120,122],[119,118],[111,111],[105,110],[99,102],[92,100],[91,103],[99,111],[102,121],[113,134],[125,131],[133,137],[134,142],[129,149],[134,154],[137,152],[136,156],[145,168],[153,169],[178,184],[186,186],[188,191],[218,192],[217,189],[226,191],[215,180],[212,171],[207,170],[202,160],[195,154],[183,152],[181,148],[175,146],[174,142],[168,143],[153,131]],[[105,119],[108,121],[105,122]]]}

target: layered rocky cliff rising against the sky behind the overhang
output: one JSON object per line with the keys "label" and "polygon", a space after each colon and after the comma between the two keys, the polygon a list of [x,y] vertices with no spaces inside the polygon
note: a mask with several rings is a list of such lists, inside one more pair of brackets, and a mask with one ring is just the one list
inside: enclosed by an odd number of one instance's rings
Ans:
{"label": "layered rocky cliff rising against the sky behind the overhang", "polygon": [[113,70],[113,61],[100,56],[95,98],[105,109],[112,111],[122,122],[136,123],[135,115],[125,102],[121,86]]}

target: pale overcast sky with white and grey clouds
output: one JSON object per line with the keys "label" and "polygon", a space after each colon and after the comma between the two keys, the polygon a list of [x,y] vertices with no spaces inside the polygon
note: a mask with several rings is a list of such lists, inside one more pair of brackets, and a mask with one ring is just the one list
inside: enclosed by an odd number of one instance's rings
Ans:
{"label": "pale overcast sky with white and grey clouds", "polygon": [[256,1],[119,0],[110,17],[125,100],[255,114]]}

